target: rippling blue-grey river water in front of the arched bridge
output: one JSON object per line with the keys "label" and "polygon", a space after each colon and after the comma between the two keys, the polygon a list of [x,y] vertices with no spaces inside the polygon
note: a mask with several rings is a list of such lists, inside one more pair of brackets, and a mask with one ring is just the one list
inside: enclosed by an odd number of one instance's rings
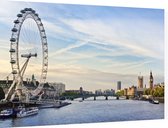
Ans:
{"label": "rippling blue-grey river water in front of the arched bridge", "polygon": [[0,128],[19,126],[42,126],[79,124],[164,118],[164,104],[151,104],[136,100],[71,101],[72,104],[56,109],[41,109],[37,115],[25,118],[0,120]]}

